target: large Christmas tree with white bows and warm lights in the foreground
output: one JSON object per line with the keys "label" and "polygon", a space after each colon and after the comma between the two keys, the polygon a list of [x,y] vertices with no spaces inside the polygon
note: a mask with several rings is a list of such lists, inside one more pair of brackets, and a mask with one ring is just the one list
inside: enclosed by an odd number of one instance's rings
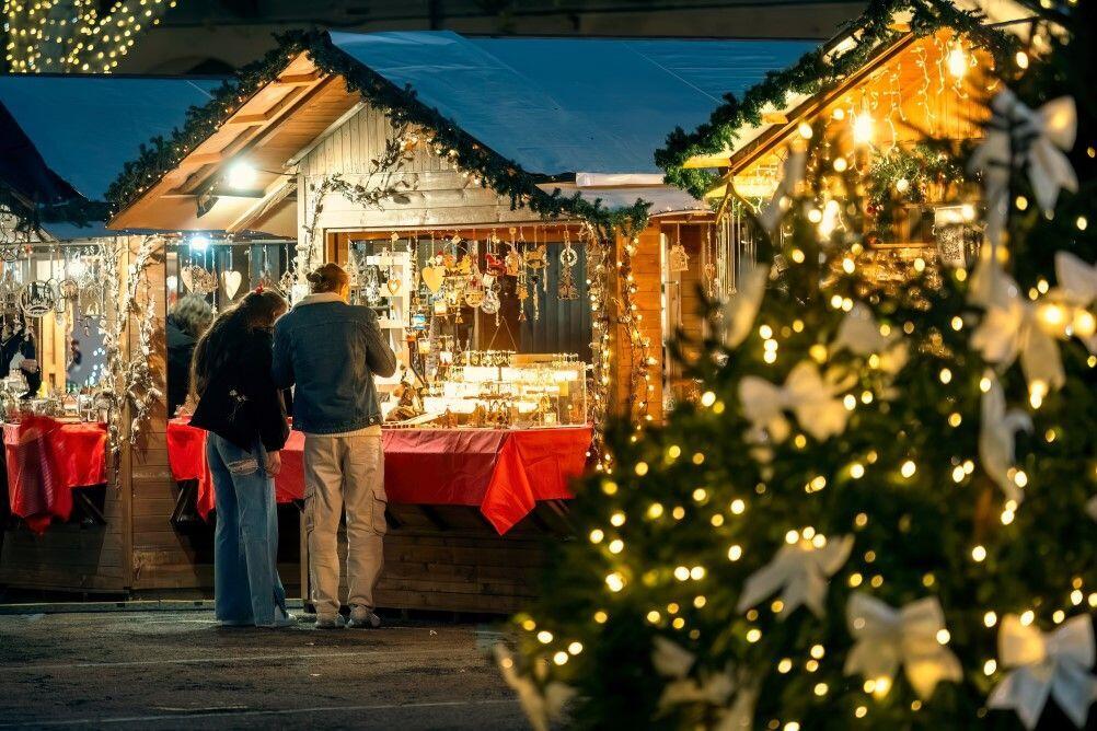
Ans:
{"label": "large Christmas tree with white bows and warm lights in the foreground", "polygon": [[700,403],[610,430],[498,650],[535,726],[1095,723],[1097,14],[1044,4],[979,146],[926,140],[970,270],[879,286],[883,173],[802,126]]}

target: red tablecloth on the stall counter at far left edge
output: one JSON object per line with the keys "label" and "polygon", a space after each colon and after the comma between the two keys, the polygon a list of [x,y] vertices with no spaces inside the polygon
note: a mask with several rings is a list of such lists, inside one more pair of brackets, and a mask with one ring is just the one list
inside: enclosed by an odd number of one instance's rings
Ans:
{"label": "red tablecloth on the stall counter at far left edge", "polygon": [[72,489],[106,482],[106,424],[25,416],[3,425],[11,512],[41,533],[68,519]]}

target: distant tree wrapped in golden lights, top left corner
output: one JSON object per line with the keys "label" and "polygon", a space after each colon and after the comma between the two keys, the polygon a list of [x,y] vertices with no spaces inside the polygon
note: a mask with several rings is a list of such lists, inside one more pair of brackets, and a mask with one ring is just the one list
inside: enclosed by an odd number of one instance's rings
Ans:
{"label": "distant tree wrapped in golden lights, top left corner", "polygon": [[176,0],[4,0],[4,58],[14,73],[110,73]]}

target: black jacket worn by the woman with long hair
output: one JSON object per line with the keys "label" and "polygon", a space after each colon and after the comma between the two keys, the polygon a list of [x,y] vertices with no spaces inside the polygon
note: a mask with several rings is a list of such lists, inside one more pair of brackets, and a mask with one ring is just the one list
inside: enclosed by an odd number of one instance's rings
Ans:
{"label": "black jacket worn by the woman with long hair", "polygon": [[265,330],[241,332],[234,339],[228,366],[210,375],[191,425],[248,452],[257,439],[268,452],[284,447],[290,424],[282,393],[271,378],[272,345]]}

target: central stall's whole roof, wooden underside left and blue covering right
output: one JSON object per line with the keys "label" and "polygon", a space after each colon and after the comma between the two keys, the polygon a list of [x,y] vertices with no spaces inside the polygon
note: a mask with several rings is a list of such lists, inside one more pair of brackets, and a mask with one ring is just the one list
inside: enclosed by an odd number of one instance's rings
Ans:
{"label": "central stall's whole roof, wooden underside left and blue covering right", "polygon": [[[695,207],[692,201],[666,201],[676,193],[661,185],[654,151],[667,129],[697,124],[721,94],[742,91],[814,45],[467,38],[450,32],[325,37],[325,47],[343,61],[394,90],[410,90],[409,99],[414,94],[416,103],[514,168],[548,184],[597,179],[598,187],[608,183],[626,192],[619,196],[623,207],[635,203],[636,193],[654,191],[661,198],[649,201],[659,204],[656,212]],[[286,53],[296,55],[285,56],[274,80],[240,100],[241,106],[178,164],[146,173],[161,178],[147,187],[142,182],[144,190],[111,227],[293,236],[287,210],[295,199],[295,163],[364,101],[348,92],[338,73],[326,73],[330,66],[321,62],[320,70],[299,45],[293,48]],[[241,160],[260,171],[253,190],[230,190],[225,182],[230,165]],[[610,205],[602,190],[589,197]]]}

